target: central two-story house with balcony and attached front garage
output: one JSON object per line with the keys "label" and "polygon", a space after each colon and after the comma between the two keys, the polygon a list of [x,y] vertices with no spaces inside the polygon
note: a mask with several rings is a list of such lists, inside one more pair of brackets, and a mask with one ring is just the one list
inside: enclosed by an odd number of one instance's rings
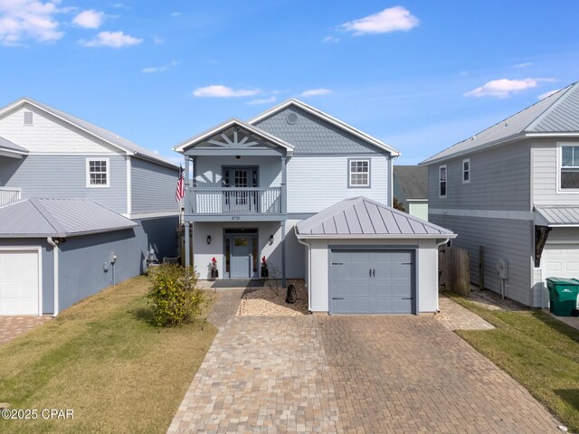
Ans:
{"label": "central two-story house with balcony and attached front garage", "polygon": [[306,279],[312,311],[438,309],[436,245],[453,234],[389,208],[392,147],[289,99],[175,149],[193,174],[185,241],[193,231],[201,278],[211,276],[213,258],[220,278],[258,277],[265,256],[283,286]]}

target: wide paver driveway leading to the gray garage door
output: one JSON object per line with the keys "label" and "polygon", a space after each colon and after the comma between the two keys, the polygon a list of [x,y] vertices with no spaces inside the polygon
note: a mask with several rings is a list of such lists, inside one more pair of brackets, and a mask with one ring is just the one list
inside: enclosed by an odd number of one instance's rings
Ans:
{"label": "wide paver driveway leading to the gray garage door", "polygon": [[432,316],[222,324],[169,432],[558,432],[522,386]]}

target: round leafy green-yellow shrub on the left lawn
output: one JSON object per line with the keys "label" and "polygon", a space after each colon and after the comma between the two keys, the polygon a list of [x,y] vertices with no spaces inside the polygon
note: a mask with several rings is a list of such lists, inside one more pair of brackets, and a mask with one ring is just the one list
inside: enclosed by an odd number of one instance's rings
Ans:
{"label": "round leafy green-yellow shrub on the left lawn", "polygon": [[150,274],[147,299],[156,325],[182,325],[201,313],[204,293],[197,288],[198,277],[194,269],[176,264],[161,264]]}

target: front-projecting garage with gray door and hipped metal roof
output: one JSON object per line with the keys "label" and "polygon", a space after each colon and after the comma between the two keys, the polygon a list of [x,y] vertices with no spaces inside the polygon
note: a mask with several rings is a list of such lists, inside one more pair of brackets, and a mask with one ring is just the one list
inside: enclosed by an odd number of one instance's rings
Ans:
{"label": "front-projecting garage with gray door and hipped metal roof", "polygon": [[309,309],[330,315],[438,310],[438,246],[456,235],[365,197],[299,222]]}

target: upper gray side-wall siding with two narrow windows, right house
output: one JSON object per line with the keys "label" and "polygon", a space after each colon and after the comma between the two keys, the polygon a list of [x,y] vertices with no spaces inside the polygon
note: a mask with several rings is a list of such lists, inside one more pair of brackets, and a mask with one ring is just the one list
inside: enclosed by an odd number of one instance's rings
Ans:
{"label": "upper gray side-wall siding with two narrow windows, right house", "polygon": [[470,183],[462,184],[463,157],[445,162],[447,197],[439,197],[439,167],[429,166],[429,207],[434,209],[529,211],[529,143],[499,146],[470,156]]}

